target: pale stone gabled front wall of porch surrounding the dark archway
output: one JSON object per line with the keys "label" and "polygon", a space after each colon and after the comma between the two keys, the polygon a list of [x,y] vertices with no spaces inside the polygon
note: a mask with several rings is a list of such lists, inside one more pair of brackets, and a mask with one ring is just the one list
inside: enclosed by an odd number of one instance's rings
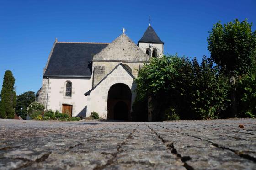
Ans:
{"label": "pale stone gabled front wall of porch surrounding the dark archway", "polygon": [[97,112],[102,118],[107,118],[107,95],[110,87],[117,83],[123,83],[130,87],[132,91],[133,104],[136,93],[134,92],[136,85],[133,83],[133,77],[119,65],[106,79],[104,79],[94,90],[91,91],[87,98],[87,116],[88,113]]}

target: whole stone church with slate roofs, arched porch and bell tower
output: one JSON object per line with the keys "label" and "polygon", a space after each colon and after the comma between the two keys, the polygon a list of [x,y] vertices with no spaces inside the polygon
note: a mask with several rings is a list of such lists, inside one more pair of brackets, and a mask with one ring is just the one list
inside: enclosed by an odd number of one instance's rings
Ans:
{"label": "whole stone church with slate roofs, arched porch and bell tower", "polygon": [[149,24],[137,45],[123,33],[112,43],[53,43],[36,101],[72,117],[97,112],[103,119],[132,120],[139,69],[163,56],[164,42]]}

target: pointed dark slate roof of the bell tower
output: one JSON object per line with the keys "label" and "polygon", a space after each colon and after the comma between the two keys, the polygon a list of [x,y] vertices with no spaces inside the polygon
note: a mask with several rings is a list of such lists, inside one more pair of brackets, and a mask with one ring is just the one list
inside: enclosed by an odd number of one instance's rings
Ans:
{"label": "pointed dark slate roof of the bell tower", "polygon": [[[139,40],[139,42],[144,43],[163,43],[158,35],[155,33],[154,29],[149,25],[146,32],[143,34],[142,38]],[[138,43],[139,43],[138,42]]]}

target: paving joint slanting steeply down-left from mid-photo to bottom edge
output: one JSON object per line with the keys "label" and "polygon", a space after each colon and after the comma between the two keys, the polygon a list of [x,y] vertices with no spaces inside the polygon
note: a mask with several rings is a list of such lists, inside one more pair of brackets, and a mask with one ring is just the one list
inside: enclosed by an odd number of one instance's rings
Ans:
{"label": "paving joint slanting steeply down-left from mid-photo to bottom edge", "polygon": [[117,157],[117,154],[120,154],[121,152],[123,152],[121,150],[121,147],[127,142],[128,139],[132,138],[133,133],[137,130],[138,127],[139,127],[139,124],[133,129],[133,131],[128,135],[128,137],[123,142],[117,144],[117,152],[111,154],[112,158],[108,159],[106,164],[98,165],[93,170],[102,170],[102,169],[106,168],[107,166],[112,165],[114,163],[114,159]]}

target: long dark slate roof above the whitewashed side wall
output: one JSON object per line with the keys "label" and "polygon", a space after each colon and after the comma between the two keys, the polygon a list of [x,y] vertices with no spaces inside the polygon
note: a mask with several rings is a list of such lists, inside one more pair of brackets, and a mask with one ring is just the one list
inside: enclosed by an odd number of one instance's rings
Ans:
{"label": "long dark slate roof above the whitewashed side wall", "polygon": [[108,44],[56,42],[43,76],[91,77],[93,55]]}

